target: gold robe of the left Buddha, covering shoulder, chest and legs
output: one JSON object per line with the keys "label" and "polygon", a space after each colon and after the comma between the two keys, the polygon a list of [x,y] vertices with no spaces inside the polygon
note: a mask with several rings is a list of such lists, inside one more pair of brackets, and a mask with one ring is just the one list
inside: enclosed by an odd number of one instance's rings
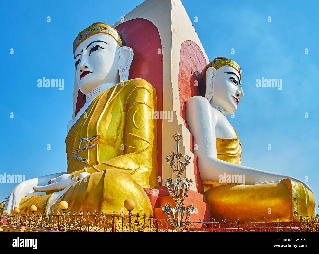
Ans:
{"label": "gold robe of the left Buddha, covering shoulder, chest and legs", "polygon": [[[136,203],[133,213],[152,214],[142,188],[158,185],[152,110],[156,110],[155,89],[143,79],[116,84],[93,100],[65,139],[67,173],[73,173],[74,178],[82,172],[90,175],[52,204],[51,212],[61,211],[60,201],[69,204],[67,211],[71,213],[127,212],[123,203],[130,198]],[[31,205],[45,213],[52,195],[24,197],[20,213],[30,212]]]}

